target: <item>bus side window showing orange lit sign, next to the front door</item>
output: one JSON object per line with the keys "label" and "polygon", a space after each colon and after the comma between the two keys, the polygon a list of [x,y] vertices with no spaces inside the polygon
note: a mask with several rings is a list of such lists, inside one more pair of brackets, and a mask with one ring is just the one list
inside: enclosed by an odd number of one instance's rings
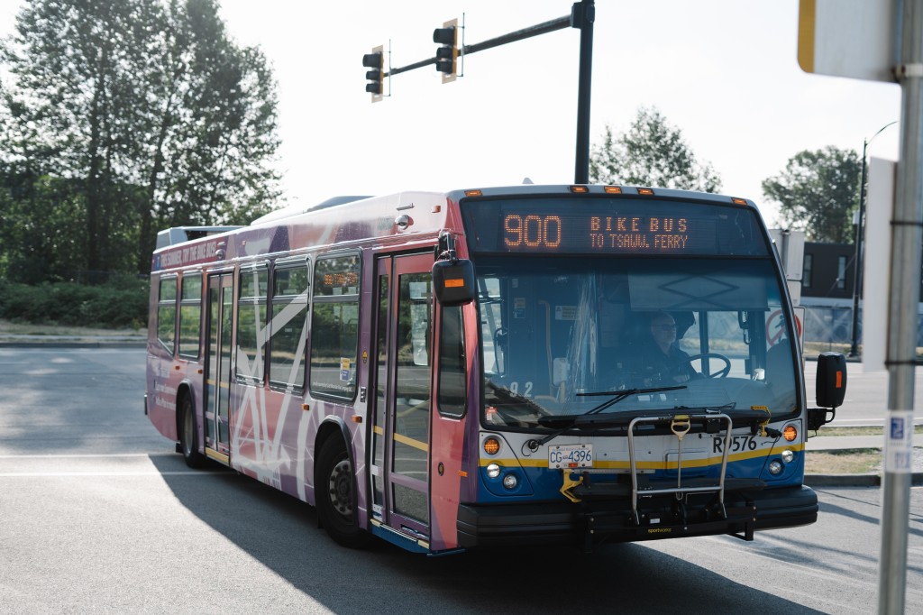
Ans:
{"label": "bus side window showing orange lit sign, next to the front door", "polygon": [[359,256],[318,259],[311,308],[311,392],[355,394],[359,345]]}

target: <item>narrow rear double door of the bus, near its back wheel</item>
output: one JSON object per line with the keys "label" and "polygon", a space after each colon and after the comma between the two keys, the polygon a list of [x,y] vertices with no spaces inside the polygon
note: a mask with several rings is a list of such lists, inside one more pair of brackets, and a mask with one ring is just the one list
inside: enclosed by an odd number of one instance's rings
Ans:
{"label": "narrow rear double door of the bus, near its back wheel", "polygon": [[209,349],[205,366],[205,453],[228,463],[228,406],[231,392],[231,332],[234,312],[234,273],[209,276]]}

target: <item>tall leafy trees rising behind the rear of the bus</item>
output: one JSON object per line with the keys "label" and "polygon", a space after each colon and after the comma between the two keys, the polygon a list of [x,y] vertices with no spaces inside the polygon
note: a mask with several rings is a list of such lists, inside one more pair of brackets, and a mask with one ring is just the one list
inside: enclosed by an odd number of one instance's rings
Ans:
{"label": "tall leafy trees rising behind the rear of the bus", "polygon": [[78,182],[90,270],[159,227],[246,222],[279,198],[275,82],[215,0],[33,0],[0,47],[0,166]]}

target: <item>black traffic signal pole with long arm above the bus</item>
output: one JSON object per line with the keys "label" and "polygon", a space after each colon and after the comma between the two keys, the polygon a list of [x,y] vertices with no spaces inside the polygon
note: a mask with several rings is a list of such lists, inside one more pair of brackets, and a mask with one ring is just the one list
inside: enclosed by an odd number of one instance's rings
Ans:
{"label": "black traffic signal pole with long arm above the bus", "polygon": [[[522,41],[523,39],[529,39],[540,34],[547,34],[555,30],[563,30],[568,27],[581,30],[580,78],[577,87],[577,154],[574,171],[575,184],[588,184],[590,181],[590,91],[593,77],[593,21],[595,20],[595,15],[595,0],[581,0],[581,2],[576,2],[571,6],[570,15],[568,16],[551,19],[550,21],[545,21],[544,23],[529,28],[523,28],[522,30],[516,30],[515,32],[509,32],[509,34],[503,34],[483,42],[477,42],[471,45],[462,44],[458,52],[458,57],[463,58],[468,54],[476,54],[477,52],[492,49],[507,44],[508,42]],[[448,26],[449,23],[450,22],[446,22],[444,25]],[[451,27],[457,28],[457,26]],[[438,29],[437,32],[439,32],[439,30],[445,30],[445,28]],[[440,60],[444,59],[445,58],[440,58],[437,55],[426,58],[426,60],[408,64],[407,66],[389,68],[389,70],[383,71],[381,74],[382,77],[390,78],[410,70],[415,70],[416,68],[422,68],[423,66],[440,66]],[[452,70],[454,71],[454,66]],[[454,72],[452,74],[454,75]],[[443,83],[450,80],[450,78],[446,78],[446,73],[443,72]],[[366,86],[366,88],[367,87],[368,86]]]}

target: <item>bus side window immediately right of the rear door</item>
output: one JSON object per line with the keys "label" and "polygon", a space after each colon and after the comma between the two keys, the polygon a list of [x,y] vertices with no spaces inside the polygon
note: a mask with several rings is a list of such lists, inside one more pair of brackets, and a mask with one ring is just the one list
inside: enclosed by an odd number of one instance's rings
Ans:
{"label": "bus side window immediately right of the rear door", "polygon": [[237,378],[255,384],[263,381],[268,290],[269,272],[265,265],[241,270],[237,302]]}

